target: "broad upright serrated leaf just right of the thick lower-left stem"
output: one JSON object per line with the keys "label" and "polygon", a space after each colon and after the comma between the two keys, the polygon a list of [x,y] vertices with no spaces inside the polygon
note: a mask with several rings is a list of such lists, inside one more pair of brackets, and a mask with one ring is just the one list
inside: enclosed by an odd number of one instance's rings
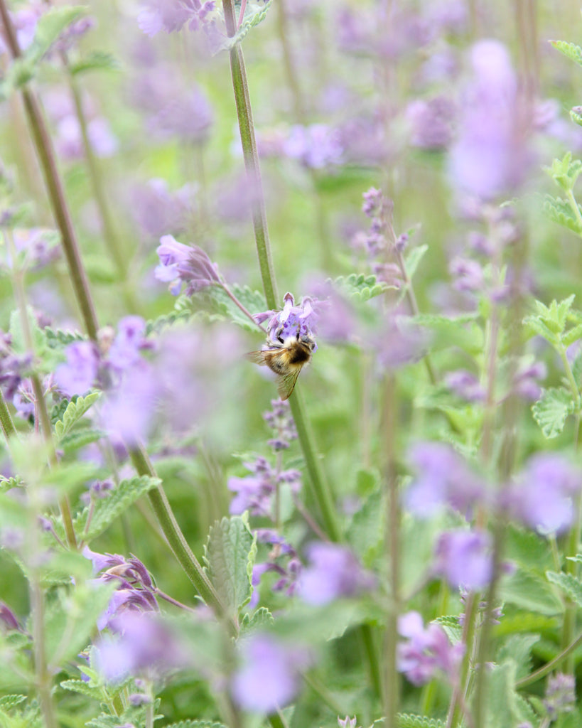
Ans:
{"label": "broad upright serrated leaf just right of the thick lower-left stem", "polygon": [[236,515],[217,521],[204,547],[204,571],[231,614],[247,604],[252,594],[252,567],[257,545],[247,518]]}

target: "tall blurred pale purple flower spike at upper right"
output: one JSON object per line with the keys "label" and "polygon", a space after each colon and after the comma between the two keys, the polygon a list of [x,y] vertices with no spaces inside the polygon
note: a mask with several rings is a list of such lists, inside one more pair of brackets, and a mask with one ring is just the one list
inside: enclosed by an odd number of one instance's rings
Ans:
{"label": "tall blurred pale purple flower spike at upper right", "polygon": [[533,161],[526,109],[503,44],[479,41],[471,50],[471,66],[458,137],[450,149],[450,182],[458,191],[494,199],[513,194]]}

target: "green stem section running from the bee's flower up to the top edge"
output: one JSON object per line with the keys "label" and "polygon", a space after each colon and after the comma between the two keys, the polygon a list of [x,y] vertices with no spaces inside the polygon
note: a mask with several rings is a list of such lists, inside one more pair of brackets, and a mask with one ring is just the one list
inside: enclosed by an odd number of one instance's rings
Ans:
{"label": "green stem section running from the bee's flower up to the top edge", "polygon": [[[223,0],[226,32],[228,37],[236,33],[236,17],[234,15],[234,0]],[[263,183],[260,178],[260,165],[255,140],[255,127],[252,123],[252,109],[250,106],[247,71],[244,68],[242,47],[237,43],[230,52],[231,74],[236,103],[236,115],[239,119],[242,154],[244,167],[252,189],[252,226],[255,229],[255,242],[259,260],[260,276],[263,280],[263,290],[267,306],[275,309],[279,296],[276,293],[273,261],[271,259],[271,243],[268,238],[267,213],[263,195]]]}

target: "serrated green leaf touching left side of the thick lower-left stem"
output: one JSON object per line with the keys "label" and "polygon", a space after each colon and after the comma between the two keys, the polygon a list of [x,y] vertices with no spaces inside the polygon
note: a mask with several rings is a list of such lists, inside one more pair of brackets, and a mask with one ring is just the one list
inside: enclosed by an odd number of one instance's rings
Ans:
{"label": "serrated green leaf touching left side of the thick lower-left stem", "polygon": [[159,478],[150,478],[149,475],[135,476],[128,480],[121,480],[119,486],[113,488],[106,498],[100,498],[94,502],[94,510],[87,528],[87,517],[89,508],[85,508],[74,521],[75,532],[78,537],[82,537],[85,541],[91,541],[95,537],[102,534],[111,523],[119,518],[129,506],[133,505],[137,499],[156,488],[162,481]]}

